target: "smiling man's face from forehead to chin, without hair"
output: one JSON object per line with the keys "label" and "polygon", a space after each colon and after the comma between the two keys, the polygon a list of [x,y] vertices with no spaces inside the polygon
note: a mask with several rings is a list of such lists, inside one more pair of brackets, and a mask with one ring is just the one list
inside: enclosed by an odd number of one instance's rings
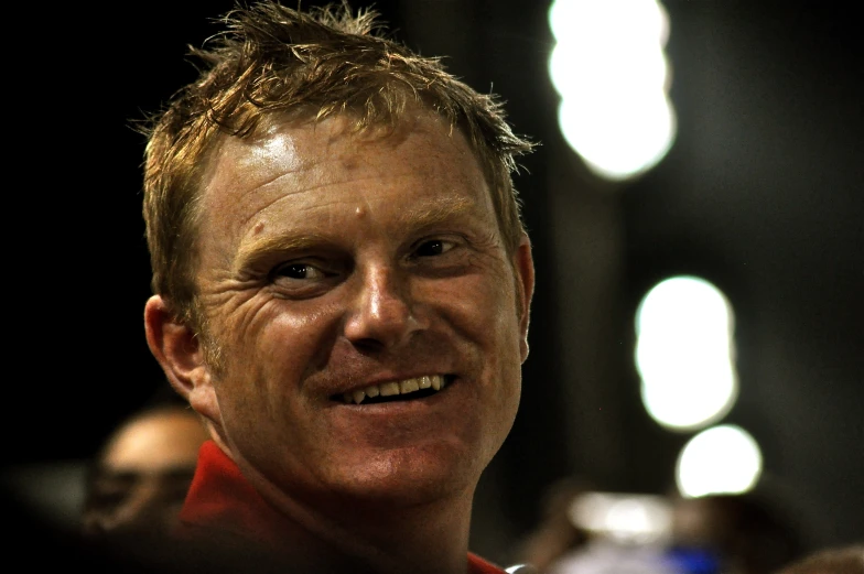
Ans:
{"label": "smiling man's face from forehead to chin, without hair", "polygon": [[212,160],[197,281],[224,368],[203,410],[263,491],[471,495],[519,403],[530,247],[506,252],[441,120],[344,127],[233,139]]}

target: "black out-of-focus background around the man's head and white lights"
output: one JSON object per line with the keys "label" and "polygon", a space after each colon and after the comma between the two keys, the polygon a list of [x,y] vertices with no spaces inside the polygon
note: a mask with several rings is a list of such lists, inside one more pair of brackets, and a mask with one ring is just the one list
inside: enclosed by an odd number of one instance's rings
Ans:
{"label": "black out-of-focus background around the man's head and white lights", "polygon": [[[6,153],[20,201],[7,213],[25,249],[7,271],[10,468],[90,456],[166,385],[143,334],[143,139],[130,122],[194,78],[186,44],[231,2],[115,6],[29,14],[13,46]],[[741,394],[723,422],[759,442],[765,480],[808,543],[864,539],[858,19],[840,2],[665,6],[678,139],[655,170],[609,185],[558,132],[548,2],[375,4],[397,39],[499,94],[515,130],[541,143],[516,181],[538,268],[523,400],[477,498],[474,545],[493,559],[560,477],[672,486],[690,435],[645,413],[631,356],[639,299],[674,273],[709,279],[735,307]]]}

